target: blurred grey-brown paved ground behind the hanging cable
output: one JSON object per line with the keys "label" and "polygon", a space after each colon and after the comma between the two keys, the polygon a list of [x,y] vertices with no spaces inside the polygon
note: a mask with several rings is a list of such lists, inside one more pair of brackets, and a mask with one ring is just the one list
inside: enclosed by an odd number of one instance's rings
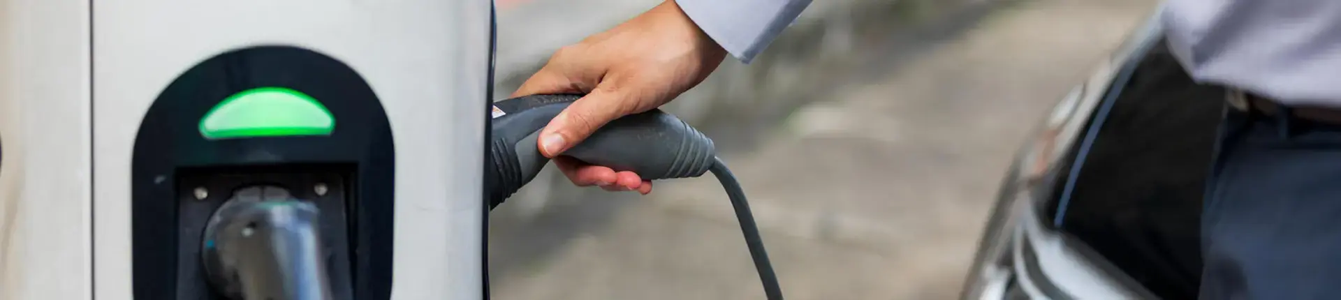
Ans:
{"label": "blurred grey-brown paved ground behind the hanging cable", "polygon": [[[1011,153],[1149,8],[1004,5],[725,154],[789,299],[953,297]],[[495,224],[495,299],[762,299],[711,177],[605,198]]]}

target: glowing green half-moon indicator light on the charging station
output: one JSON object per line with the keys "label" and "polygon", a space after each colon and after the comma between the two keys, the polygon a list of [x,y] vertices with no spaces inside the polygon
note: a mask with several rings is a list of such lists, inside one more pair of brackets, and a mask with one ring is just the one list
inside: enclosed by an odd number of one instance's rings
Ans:
{"label": "glowing green half-moon indicator light on the charging station", "polygon": [[207,139],[330,135],[335,118],[300,91],[257,87],[228,96],[200,121]]}

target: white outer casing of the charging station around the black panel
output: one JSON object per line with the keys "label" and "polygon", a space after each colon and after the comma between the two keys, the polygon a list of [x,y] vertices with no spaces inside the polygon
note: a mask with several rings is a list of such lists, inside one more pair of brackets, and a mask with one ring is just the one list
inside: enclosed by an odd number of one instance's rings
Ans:
{"label": "white outer casing of the charging station around the black panel", "polygon": [[141,119],[192,66],[261,44],[338,59],[380,98],[396,137],[392,299],[483,297],[491,5],[0,1],[0,299],[133,299]]}

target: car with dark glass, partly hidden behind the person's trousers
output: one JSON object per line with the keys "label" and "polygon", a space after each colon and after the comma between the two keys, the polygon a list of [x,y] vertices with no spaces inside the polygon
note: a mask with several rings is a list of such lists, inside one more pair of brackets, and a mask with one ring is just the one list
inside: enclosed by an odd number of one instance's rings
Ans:
{"label": "car with dark glass, partly hidden behind the person's trousers", "polygon": [[1196,299],[1224,92],[1148,21],[1015,157],[961,299]]}

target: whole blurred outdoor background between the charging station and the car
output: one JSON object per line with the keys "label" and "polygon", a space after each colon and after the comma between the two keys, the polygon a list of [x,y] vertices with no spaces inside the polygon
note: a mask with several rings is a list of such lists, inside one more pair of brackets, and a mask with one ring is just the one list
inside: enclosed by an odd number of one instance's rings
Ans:
{"label": "whole blurred outdoor background between the charging station and the car", "polygon": [[[658,0],[496,0],[496,95]],[[789,299],[953,299],[1010,158],[1155,0],[815,0],[666,108],[740,177]],[[719,183],[550,167],[493,210],[496,299],[763,299]]]}

